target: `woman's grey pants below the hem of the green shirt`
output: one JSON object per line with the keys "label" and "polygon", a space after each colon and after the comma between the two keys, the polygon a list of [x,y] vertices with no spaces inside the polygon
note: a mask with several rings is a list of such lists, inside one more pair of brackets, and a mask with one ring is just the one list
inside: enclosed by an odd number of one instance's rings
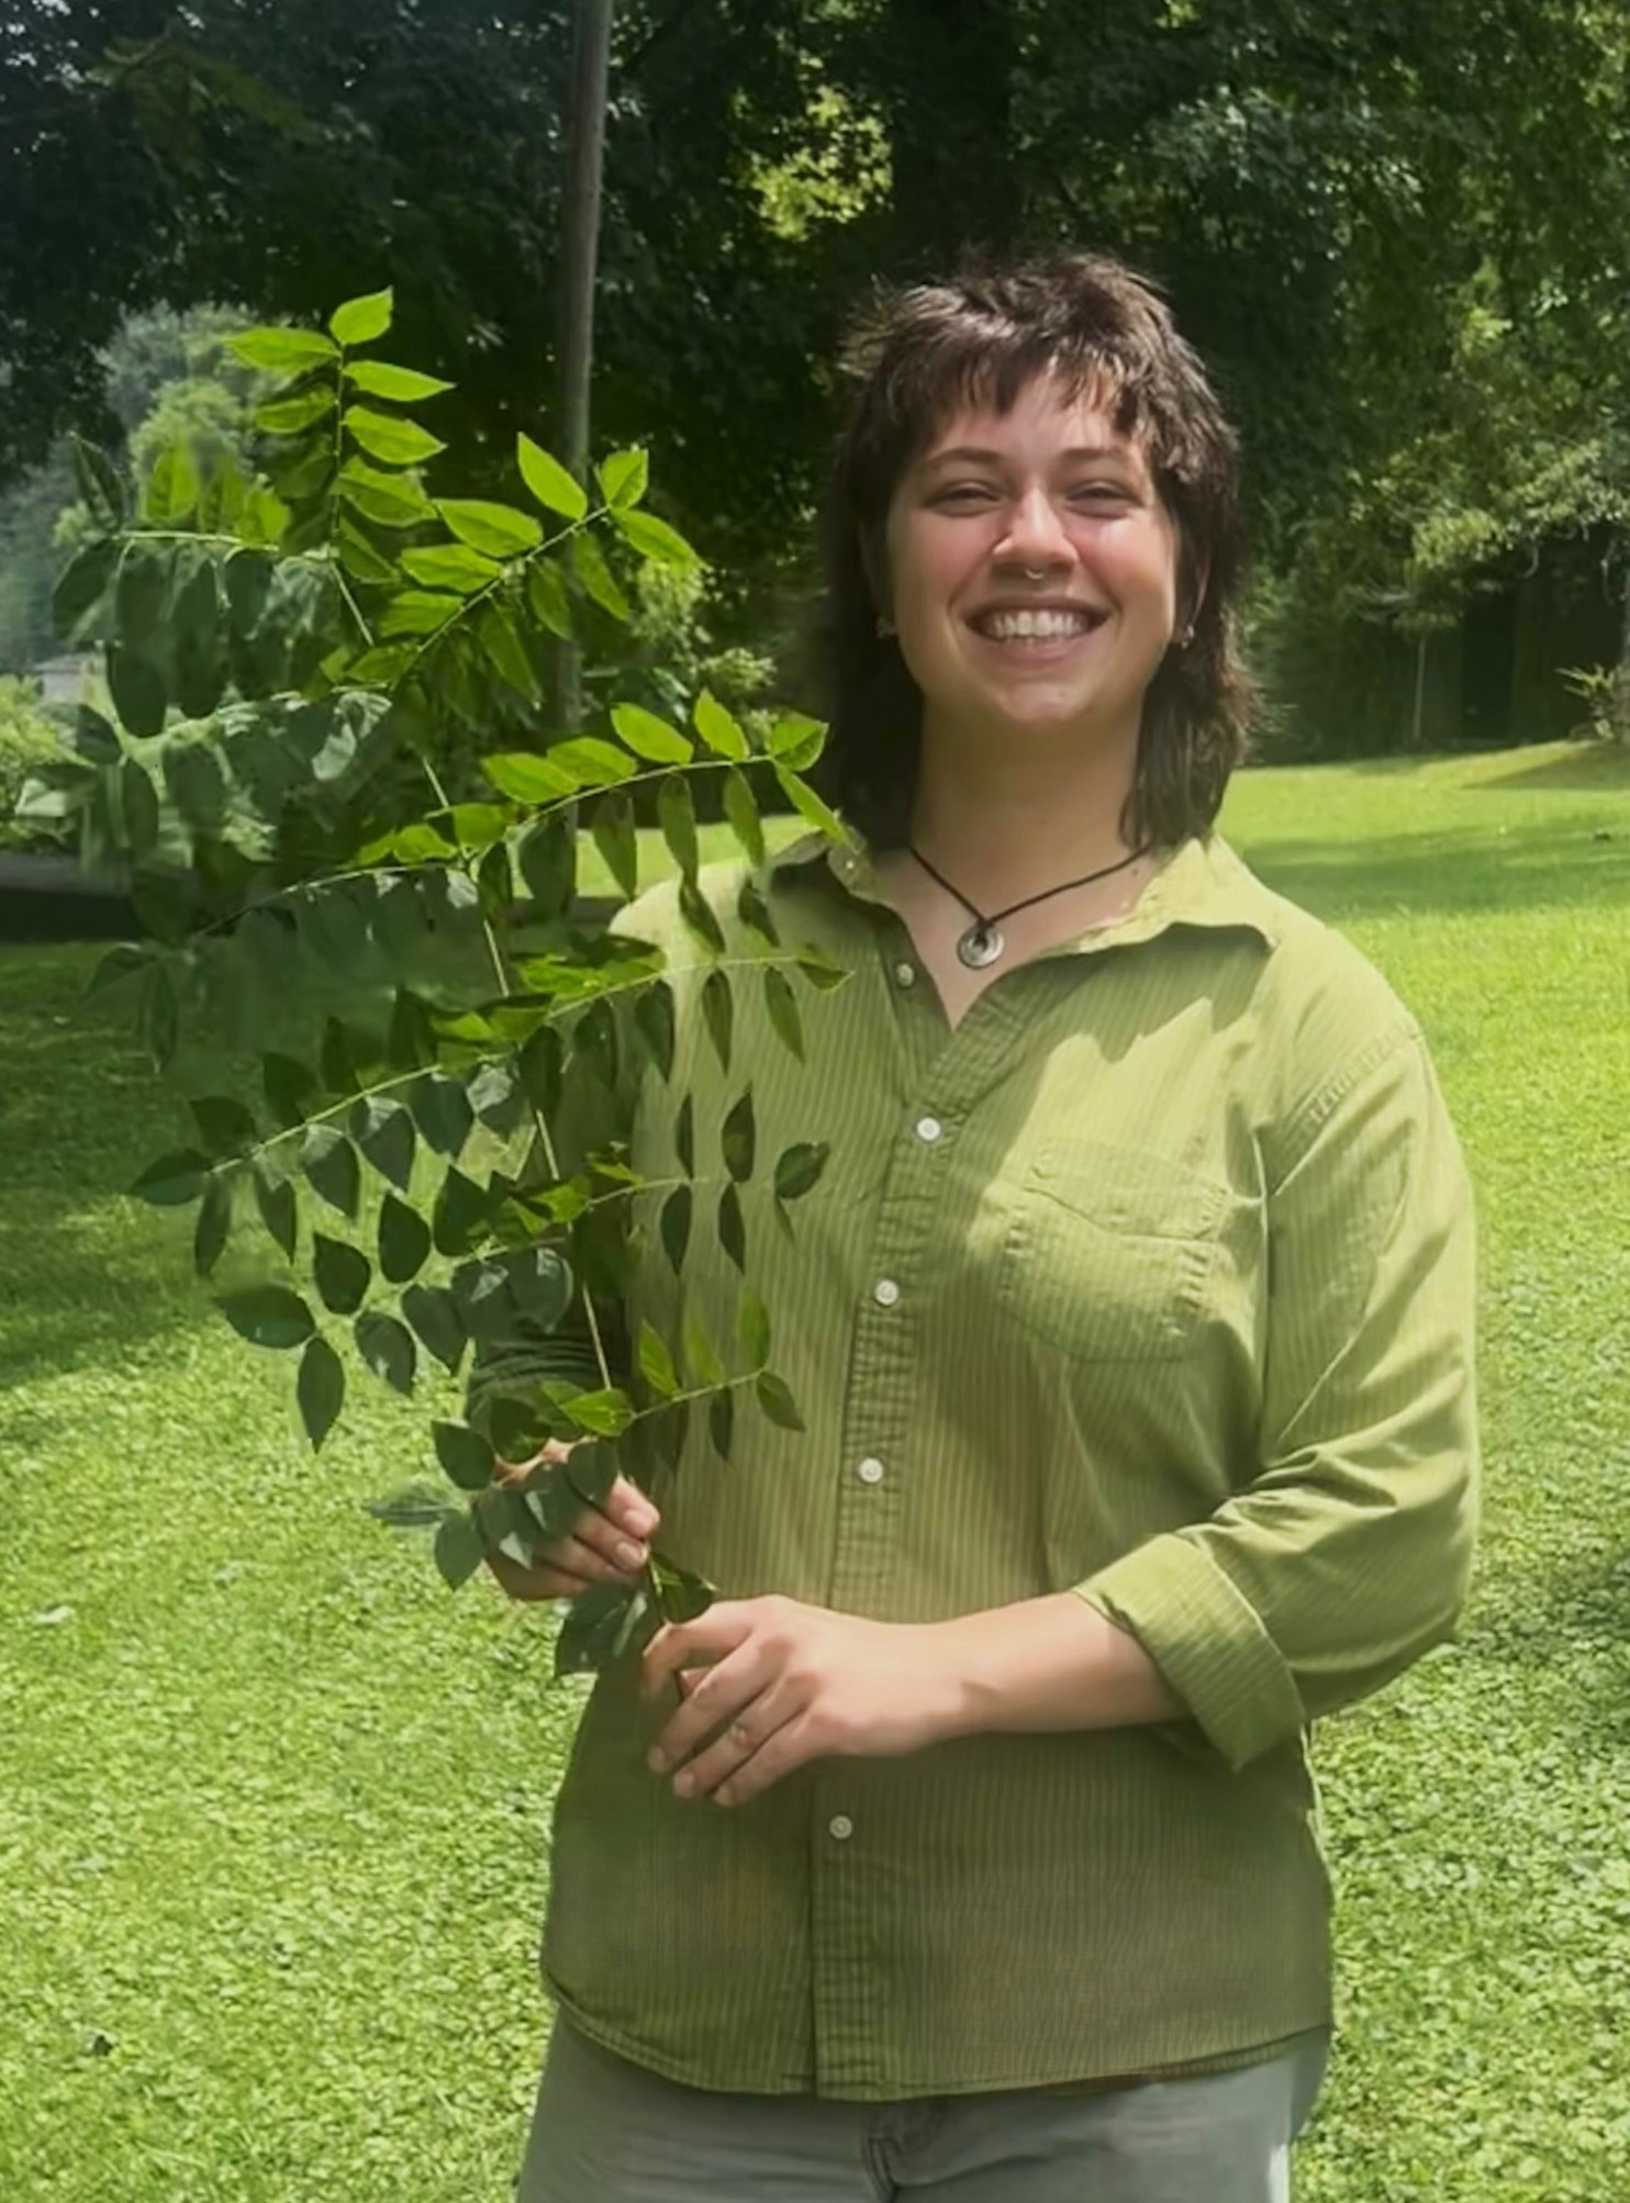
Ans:
{"label": "woman's grey pants below the hem of the green shirt", "polygon": [[718,2095],[555,2022],[518,2203],[1289,2203],[1328,2033],[1269,2064],[910,2104]]}

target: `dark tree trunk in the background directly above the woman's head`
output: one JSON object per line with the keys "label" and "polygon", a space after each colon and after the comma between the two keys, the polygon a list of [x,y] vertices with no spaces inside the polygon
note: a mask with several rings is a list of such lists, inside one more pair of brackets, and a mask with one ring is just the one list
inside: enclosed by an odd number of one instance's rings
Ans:
{"label": "dark tree trunk in the background directly above the woman's head", "polygon": [[947,271],[958,247],[1018,238],[1011,0],[888,9],[894,238],[903,269]]}

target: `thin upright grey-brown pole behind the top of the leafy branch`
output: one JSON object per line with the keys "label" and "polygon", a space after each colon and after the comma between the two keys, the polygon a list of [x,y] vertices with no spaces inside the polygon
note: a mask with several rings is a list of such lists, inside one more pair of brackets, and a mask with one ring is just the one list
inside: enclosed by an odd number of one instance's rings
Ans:
{"label": "thin upright grey-brown pole behind the top of the leafy branch", "polygon": [[[588,482],[588,394],[595,370],[595,260],[599,253],[599,181],[606,165],[610,20],[612,0],[577,0],[555,352],[559,458],[579,482]],[[573,731],[584,716],[577,643],[562,643],[557,650],[555,705],[562,727]]]}

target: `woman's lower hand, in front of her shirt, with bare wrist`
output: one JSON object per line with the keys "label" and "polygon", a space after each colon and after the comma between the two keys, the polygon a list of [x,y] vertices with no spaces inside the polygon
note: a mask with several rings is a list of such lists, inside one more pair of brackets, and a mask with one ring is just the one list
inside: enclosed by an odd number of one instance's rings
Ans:
{"label": "woman's lower hand, in front of her shirt, with bare wrist", "polygon": [[681,1798],[742,1804],[806,1760],[919,1751],[956,1729],[947,1654],[932,1624],[868,1621],[782,1597],[720,1599],[645,1648],[648,1699],[681,1676],[689,1685],[650,1767],[678,1767]]}

